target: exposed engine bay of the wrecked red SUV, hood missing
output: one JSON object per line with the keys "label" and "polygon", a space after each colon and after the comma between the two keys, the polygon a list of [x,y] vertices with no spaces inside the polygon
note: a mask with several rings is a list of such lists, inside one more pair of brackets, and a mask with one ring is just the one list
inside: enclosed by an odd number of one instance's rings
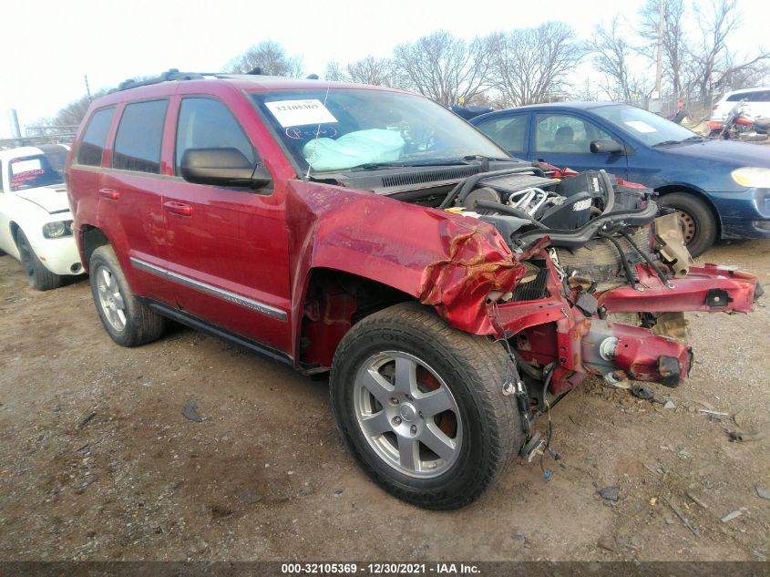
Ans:
{"label": "exposed engine bay of the wrecked red SUV, hood missing", "polygon": [[[692,259],[676,234],[676,216],[662,217],[664,237],[651,234],[659,214],[654,197],[654,191],[604,170],[557,178],[553,171],[533,167],[470,177],[447,194],[441,207],[494,225],[518,254],[548,238],[561,281],[593,294],[623,284],[637,286],[637,263],[650,265],[664,284],[670,275],[687,273]],[[541,298],[545,290],[545,269],[525,264],[529,273],[513,300]],[[672,270],[664,271],[663,264]]]}

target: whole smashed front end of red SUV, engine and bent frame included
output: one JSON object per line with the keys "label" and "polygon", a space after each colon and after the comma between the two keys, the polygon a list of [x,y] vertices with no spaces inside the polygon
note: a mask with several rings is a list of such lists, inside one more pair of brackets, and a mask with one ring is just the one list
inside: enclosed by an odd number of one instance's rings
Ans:
{"label": "whole smashed front end of red SUV, engine and bent frame included", "polygon": [[[422,302],[458,328],[505,339],[536,381],[529,388],[545,383],[551,396],[589,375],[677,386],[693,364],[683,313],[748,312],[761,292],[752,274],[694,266],[677,215],[603,170],[498,170],[460,182],[441,208],[493,225],[510,257],[488,263],[453,239],[459,248],[426,269]],[[479,283],[490,271],[496,282]],[[457,304],[464,286],[488,289],[483,321],[468,322],[473,311]]]}

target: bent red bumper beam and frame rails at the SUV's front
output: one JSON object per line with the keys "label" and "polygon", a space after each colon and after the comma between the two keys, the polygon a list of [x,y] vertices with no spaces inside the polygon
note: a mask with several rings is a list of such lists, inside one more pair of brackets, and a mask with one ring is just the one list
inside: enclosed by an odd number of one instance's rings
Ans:
{"label": "bent red bumper beam and frame rails at the SUV's front", "polygon": [[[498,336],[513,339],[525,361],[554,364],[554,395],[589,375],[676,386],[693,364],[693,353],[681,338],[681,314],[748,313],[755,295],[763,292],[755,275],[730,267],[692,266],[685,277],[669,279],[666,285],[647,265],[638,264],[636,286],[594,294],[598,314],[588,315],[570,303],[553,264],[545,260],[551,272],[546,298],[494,304],[489,314]],[[616,313],[655,314],[662,325],[651,329],[615,323],[608,315]]]}

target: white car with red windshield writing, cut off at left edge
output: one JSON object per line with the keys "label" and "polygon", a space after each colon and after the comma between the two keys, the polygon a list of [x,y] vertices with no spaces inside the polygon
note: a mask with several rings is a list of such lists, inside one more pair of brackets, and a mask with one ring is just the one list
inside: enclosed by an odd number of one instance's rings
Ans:
{"label": "white car with red windshield writing, cut off at left edge", "polygon": [[84,272],[64,185],[67,151],[53,144],[0,150],[0,254],[21,261],[39,291]]}

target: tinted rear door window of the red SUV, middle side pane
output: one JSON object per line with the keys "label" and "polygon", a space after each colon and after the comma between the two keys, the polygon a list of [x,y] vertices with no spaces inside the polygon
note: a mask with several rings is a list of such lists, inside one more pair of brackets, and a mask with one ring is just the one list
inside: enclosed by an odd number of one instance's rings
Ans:
{"label": "tinted rear door window of the red SUV, middle side pane", "polygon": [[134,102],[123,110],[112,168],[160,174],[160,145],[168,100]]}

